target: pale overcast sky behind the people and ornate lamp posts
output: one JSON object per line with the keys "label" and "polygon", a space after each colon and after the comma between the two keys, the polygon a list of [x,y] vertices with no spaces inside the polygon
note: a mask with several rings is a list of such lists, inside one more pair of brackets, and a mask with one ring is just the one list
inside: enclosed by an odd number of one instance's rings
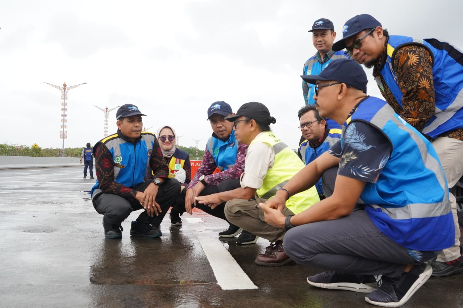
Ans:
{"label": "pale overcast sky behind the people and ornate lamp posts", "polygon": [[[313,3],[319,3],[317,8]],[[180,145],[204,149],[215,101],[236,111],[264,103],[274,133],[300,139],[304,62],[315,53],[311,29],[329,18],[342,37],[349,18],[369,13],[390,34],[436,37],[463,49],[461,0],[21,1],[0,4],[0,143],[61,148],[61,92],[68,86],[65,147],[103,138],[104,113],[131,103],[144,127],[170,124]],[[379,96],[371,71],[368,91]],[[116,110],[108,133],[116,131]]]}

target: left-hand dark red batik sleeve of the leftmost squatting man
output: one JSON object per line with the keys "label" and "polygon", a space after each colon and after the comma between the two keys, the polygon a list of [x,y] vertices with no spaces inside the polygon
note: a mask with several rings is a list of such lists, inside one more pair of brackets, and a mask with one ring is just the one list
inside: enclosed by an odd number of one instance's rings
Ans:
{"label": "left-hand dark red batik sleeve of the leftmost squatting man", "polygon": [[133,198],[137,191],[114,181],[113,155],[109,149],[98,142],[94,146],[95,173],[103,193],[111,193],[124,198]]}

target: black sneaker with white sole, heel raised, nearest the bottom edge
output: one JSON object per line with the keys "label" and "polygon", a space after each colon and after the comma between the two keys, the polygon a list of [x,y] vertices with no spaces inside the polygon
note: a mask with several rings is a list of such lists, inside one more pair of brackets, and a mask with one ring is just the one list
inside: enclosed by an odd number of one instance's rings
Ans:
{"label": "black sneaker with white sole, heel raised, nearest the bottom edge", "polygon": [[378,290],[365,296],[365,301],[383,307],[399,307],[431,277],[430,264],[416,265],[408,273],[396,278],[382,276]]}

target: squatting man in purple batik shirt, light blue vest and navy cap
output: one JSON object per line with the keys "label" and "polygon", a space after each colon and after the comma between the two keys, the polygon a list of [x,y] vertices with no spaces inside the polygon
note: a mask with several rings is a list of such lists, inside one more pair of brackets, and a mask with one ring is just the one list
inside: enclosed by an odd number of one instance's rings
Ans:
{"label": "squatting man in purple batik shirt, light blue vest and navy cap", "polygon": [[[214,102],[207,109],[207,120],[211,124],[213,134],[207,141],[200,168],[187,189],[182,192],[185,197],[185,211],[190,215],[193,214],[192,207],[195,206],[228,222],[224,213],[225,202],[211,209],[207,205],[199,204],[194,198],[240,187],[239,177],[244,171],[244,157],[248,146],[238,143],[235,139],[233,123],[225,120],[229,115],[234,113],[232,107],[225,102]],[[220,172],[213,173],[216,168],[219,168]],[[257,236],[231,223],[227,230],[219,232],[220,237],[233,237],[238,234],[239,245],[257,242]]]}

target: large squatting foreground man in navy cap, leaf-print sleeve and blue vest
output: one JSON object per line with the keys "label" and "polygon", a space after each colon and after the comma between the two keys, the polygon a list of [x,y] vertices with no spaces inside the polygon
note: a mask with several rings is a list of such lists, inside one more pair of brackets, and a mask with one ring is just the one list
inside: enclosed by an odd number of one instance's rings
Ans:
{"label": "large squatting foreground man in navy cap, leaf-print sleeve and blue vest", "polygon": [[[343,133],[285,191],[259,204],[265,221],[288,230],[288,256],[328,270],[308,277],[309,284],[369,293],[367,302],[399,307],[431,276],[426,262],[454,243],[437,153],[385,101],[366,95],[368,80],[355,61],[334,60],[318,76],[301,77],[316,85],[320,116],[342,124]],[[339,168],[330,197],[291,217],[275,210],[333,166]]]}

